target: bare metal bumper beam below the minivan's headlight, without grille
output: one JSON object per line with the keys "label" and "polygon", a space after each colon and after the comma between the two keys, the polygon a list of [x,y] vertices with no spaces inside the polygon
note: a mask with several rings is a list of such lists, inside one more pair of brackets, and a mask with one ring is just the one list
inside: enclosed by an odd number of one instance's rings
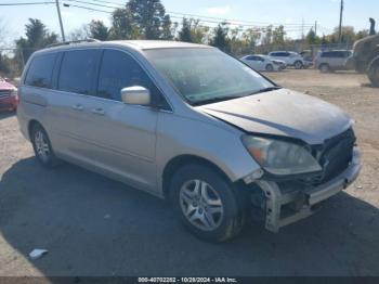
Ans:
{"label": "bare metal bumper beam below the minivan's headlight, without grille", "polygon": [[318,186],[256,181],[265,196],[265,228],[276,233],[280,228],[313,215],[322,202],[347,189],[358,177],[361,168],[360,153],[354,150],[349,168]]}

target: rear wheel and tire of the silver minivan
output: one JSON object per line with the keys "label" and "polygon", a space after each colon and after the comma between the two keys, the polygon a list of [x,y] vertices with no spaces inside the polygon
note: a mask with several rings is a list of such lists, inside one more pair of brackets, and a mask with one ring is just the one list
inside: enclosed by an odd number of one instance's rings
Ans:
{"label": "rear wheel and tire of the silver minivan", "polygon": [[30,140],[38,162],[45,168],[54,168],[60,163],[51,146],[47,131],[39,124],[32,126]]}

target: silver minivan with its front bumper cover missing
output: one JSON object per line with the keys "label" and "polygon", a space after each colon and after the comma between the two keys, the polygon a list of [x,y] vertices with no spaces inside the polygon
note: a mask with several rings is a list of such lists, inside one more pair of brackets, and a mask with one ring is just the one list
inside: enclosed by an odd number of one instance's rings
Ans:
{"label": "silver minivan with its front bumper cover missing", "polygon": [[361,170],[344,112],[208,46],[52,47],[29,59],[18,91],[21,130],[42,166],[65,160],[167,198],[208,241],[251,218],[278,232]]}

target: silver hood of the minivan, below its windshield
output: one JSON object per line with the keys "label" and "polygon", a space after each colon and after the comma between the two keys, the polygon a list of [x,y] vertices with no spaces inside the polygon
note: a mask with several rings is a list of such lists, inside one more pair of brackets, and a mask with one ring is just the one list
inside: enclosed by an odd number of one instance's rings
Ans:
{"label": "silver hood of the minivan, below its windshield", "polygon": [[198,108],[247,132],[301,139],[311,145],[351,127],[350,117],[337,106],[286,89]]}

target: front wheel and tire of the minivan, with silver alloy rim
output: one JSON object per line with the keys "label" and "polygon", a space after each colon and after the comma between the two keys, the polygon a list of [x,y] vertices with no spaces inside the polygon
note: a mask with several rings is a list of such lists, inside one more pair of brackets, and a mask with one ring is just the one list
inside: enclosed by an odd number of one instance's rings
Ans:
{"label": "front wheel and tire of the minivan, with silver alloy rim", "polygon": [[245,225],[247,198],[207,166],[180,168],[171,180],[170,197],[183,224],[201,240],[226,242]]}

